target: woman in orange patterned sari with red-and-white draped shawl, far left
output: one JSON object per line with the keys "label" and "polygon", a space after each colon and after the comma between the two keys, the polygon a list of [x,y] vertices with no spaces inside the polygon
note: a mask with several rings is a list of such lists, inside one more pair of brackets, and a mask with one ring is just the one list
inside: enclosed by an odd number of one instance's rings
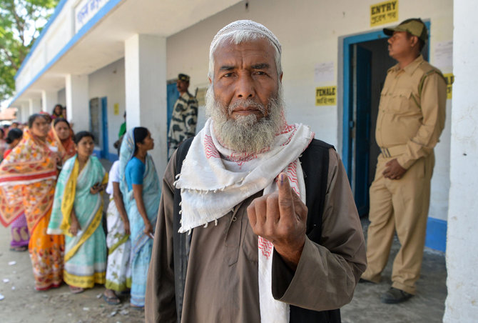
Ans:
{"label": "woman in orange patterned sari with red-and-white draped shawl, far left", "polygon": [[46,234],[57,158],[50,149],[55,143],[47,141],[48,131],[44,116],[30,116],[23,139],[0,164],[0,222],[7,226],[25,213],[36,290],[59,287],[63,279],[64,237]]}

